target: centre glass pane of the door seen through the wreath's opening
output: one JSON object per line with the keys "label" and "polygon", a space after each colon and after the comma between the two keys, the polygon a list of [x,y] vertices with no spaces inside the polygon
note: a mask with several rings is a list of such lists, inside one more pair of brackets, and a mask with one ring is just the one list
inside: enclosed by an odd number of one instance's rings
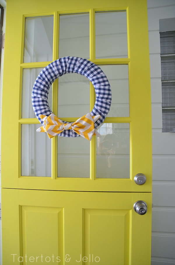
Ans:
{"label": "centre glass pane of the door seen through the wreath's opening", "polygon": [[90,81],[69,73],[58,79],[58,116],[81,117],[90,112]]}

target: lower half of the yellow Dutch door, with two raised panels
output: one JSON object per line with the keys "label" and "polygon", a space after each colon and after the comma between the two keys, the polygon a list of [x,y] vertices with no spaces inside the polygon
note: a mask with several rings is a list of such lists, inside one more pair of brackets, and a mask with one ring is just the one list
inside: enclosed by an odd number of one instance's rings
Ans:
{"label": "lower half of the yellow Dutch door, with two raised panels", "polygon": [[[138,200],[148,205],[143,216],[133,209]],[[149,265],[150,218],[150,192],[2,189],[2,262]]]}

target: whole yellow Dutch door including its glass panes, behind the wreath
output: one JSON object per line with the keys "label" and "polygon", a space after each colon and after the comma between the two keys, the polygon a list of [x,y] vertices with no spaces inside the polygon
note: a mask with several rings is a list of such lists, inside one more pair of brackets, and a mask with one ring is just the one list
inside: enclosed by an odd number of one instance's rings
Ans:
{"label": "whole yellow Dutch door including its glass panes, behind the wreath", "polygon": [[[36,133],[34,81],[65,56],[96,63],[111,84],[102,137],[91,142]],[[50,87],[48,102],[59,118],[75,121],[92,110],[94,87],[67,74]],[[3,264],[150,264],[146,1],[7,0],[1,137]],[[134,181],[141,173],[144,184]]]}

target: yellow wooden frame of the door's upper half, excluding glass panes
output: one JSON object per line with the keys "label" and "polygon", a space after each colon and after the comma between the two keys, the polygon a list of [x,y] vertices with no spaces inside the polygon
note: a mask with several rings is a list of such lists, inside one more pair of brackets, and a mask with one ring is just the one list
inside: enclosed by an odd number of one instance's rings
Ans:
{"label": "yellow wooden frame of the door's upper half, excluding glass panes", "polygon": [[[20,8],[19,8],[20,7]],[[95,59],[95,11],[126,10],[128,58]],[[21,119],[22,69],[45,67],[48,62],[23,63],[25,17],[54,16],[53,60],[58,56],[59,14],[90,13],[90,60],[99,65],[129,65],[130,117],[107,117],[105,122],[129,122],[131,173],[129,179],[95,179],[95,140],[91,142],[90,178],[57,178],[57,140],[52,140],[52,178],[20,176],[20,125],[38,123],[37,119]],[[14,23],[15,21],[15,23]],[[22,23],[23,21],[23,23]],[[13,27],[12,27],[13,25]],[[13,39],[13,42],[11,41]],[[15,51],[15,52],[14,52]],[[9,63],[10,62],[10,63]],[[151,107],[146,1],[34,1],[7,0],[6,43],[4,51],[1,172],[2,187],[43,190],[151,191]],[[93,93],[91,88],[91,105]],[[92,107],[92,106],[91,106]],[[53,109],[57,112],[57,84],[53,84]],[[13,131],[7,116],[13,113]],[[62,118],[62,117],[60,117]],[[77,117],[79,118],[79,117]],[[77,118],[62,118],[68,122]],[[8,140],[7,140],[8,139]],[[13,152],[12,152],[13,147]],[[9,166],[10,164],[10,166]],[[13,169],[13,170],[12,170]],[[12,171],[11,171],[12,170]],[[12,173],[13,172],[13,173]],[[144,173],[143,186],[134,183],[134,175]],[[95,180],[95,181],[93,181]]]}

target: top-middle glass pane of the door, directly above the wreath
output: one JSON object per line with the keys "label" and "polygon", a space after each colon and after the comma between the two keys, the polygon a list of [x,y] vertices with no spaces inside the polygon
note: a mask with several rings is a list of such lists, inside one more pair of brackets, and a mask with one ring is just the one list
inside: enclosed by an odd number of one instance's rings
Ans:
{"label": "top-middle glass pane of the door, directly above the wreath", "polygon": [[89,13],[60,15],[59,58],[89,58]]}

